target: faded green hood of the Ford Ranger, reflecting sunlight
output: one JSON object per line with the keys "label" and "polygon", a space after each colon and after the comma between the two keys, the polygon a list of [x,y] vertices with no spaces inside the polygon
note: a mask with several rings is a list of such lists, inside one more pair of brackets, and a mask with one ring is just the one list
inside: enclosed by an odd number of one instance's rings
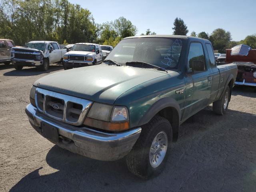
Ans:
{"label": "faded green hood of the Ford Ranger, reflecting sunlight", "polygon": [[[168,75],[173,73],[168,71]],[[87,66],[56,72],[38,79],[34,86],[96,102],[114,104],[127,90],[166,72],[130,66]]]}

